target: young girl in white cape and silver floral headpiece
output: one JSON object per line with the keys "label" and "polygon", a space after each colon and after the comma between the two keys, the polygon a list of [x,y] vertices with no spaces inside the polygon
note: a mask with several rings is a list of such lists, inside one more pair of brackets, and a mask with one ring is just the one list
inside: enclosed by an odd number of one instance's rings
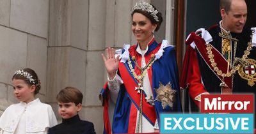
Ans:
{"label": "young girl in white cape and silver floral headpiece", "polygon": [[0,117],[0,133],[46,134],[57,120],[51,106],[35,98],[41,87],[35,71],[29,68],[15,71],[12,84],[13,94],[20,103],[6,108]]}

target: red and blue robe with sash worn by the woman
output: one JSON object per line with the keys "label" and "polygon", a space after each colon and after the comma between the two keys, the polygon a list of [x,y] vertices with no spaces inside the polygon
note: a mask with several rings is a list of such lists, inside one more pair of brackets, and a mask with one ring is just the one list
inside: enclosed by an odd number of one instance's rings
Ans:
{"label": "red and blue robe with sash worn by the woman", "polygon": [[[129,48],[129,58],[135,56],[139,66],[141,66],[141,55],[136,52],[136,48],[139,45],[133,45]],[[145,54],[145,62],[150,61],[152,54],[156,54],[161,48],[161,43],[157,43],[156,40],[148,43],[148,50]],[[181,112],[180,94],[179,94],[179,75],[177,70],[175,49],[172,46],[163,48],[163,56],[156,59],[152,66],[147,70],[150,80],[150,86],[154,96],[154,100],[157,97],[157,89],[159,84],[166,85],[171,83],[172,89],[177,90],[175,93],[175,101],[173,101],[173,107],[167,105],[162,107],[161,101],[154,101],[154,105],[150,105],[144,99],[145,93],[143,93],[143,117],[145,117],[152,126],[155,122],[159,122],[159,114],[163,112]],[[124,50],[123,50],[124,53]],[[135,66],[132,61],[132,66],[137,75],[140,75],[140,70]],[[109,123],[108,106],[109,106],[109,89],[105,84],[100,96],[103,98],[104,106],[104,133],[134,133],[136,130],[137,112],[140,107],[140,94],[135,91],[135,87],[138,87],[136,78],[133,77],[127,61],[125,63],[120,62],[118,68],[118,75],[122,78],[124,84],[121,84],[118,98],[116,100],[115,112],[113,115],[112,128]]]}

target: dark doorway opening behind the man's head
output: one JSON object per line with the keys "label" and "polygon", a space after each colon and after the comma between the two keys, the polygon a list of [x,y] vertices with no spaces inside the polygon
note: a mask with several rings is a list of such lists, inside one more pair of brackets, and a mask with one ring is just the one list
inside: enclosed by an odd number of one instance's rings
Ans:
{"label": "dark doorway opening behind the man's head", "polygon": [[[186,17],[186,36],[199,28],[207,29],[221,20],[220,1],[188,0]],[[248,16],[245,27],[256,27],[256,1],[246,0]]]}

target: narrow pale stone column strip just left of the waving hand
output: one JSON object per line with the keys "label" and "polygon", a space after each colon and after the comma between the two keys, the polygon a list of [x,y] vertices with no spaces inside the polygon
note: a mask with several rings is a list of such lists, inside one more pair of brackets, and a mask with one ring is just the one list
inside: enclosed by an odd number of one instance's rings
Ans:
{"label": "narrow pale stone column strip just left of the waving hand", "polygon": [[105,82],[101,53],[105,47],[106,0],[89,1],[88,44],[86,52],[85,119],[92,121],[96,133],[103,131],[103,108],[99,93]]}

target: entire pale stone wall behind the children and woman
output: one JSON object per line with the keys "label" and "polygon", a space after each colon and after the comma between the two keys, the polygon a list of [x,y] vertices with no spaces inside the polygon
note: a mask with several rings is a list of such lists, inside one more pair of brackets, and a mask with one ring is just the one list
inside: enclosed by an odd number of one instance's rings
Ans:
{"label": "entire pale stone wall behind the children and woman", "polygon": [[137,1],[0,0],[0,115],[17,103],[13,72],[33,68],[42,83],[38,97],[52,105],[59,121],[56,94],[74,86],[84,94],[81,119],[102,133],[99,92],[106,71],[100,54],[136,43],[130,13]]}

